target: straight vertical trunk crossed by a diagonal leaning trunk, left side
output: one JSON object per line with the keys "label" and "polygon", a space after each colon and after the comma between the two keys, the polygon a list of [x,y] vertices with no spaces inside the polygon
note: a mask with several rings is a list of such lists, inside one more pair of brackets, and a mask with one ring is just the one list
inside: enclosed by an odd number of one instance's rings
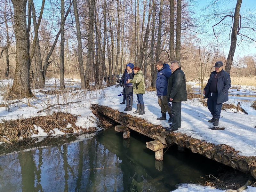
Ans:
{"label": "straight vertical trunk crossed by a diagonal leaning trunk, left side", "polygon": [[65,80],[64,80],[64,0],[61,0],[61,9],[60,9],[60,90],[65,90]]}

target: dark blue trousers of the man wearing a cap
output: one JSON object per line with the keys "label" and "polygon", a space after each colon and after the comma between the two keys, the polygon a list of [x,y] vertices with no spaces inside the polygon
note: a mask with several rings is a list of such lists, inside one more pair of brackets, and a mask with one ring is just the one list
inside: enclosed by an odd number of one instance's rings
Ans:
{"label": "dark blue trousers of the man wearing a cap", "polygon": [[207,100],[207,107],[211,112],[214,118],[220,118],[220,110],[222,107],[222,103],[217,103],[218,92],[209,92],[208,100]]}

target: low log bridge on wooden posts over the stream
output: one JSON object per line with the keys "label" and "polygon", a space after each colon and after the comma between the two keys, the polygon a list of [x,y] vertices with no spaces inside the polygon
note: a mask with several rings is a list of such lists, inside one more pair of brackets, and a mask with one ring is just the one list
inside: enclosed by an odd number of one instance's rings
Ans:
{"label": "low log bridge on wooden posts over the stream", "polygon": [[193,153],[199,153],[209,159],[231,166],[239,171],[249,173],[256,178],[256,158],[254,156],[239,156],[237,151],[225,144],[216,146],[212,143],[194,139],[186,134],[165,131],[162,125],[148,123],[140,117],[132,116],[110,107],[93,104],[92,110],[120,123],[121,125],[115,126],[115,130],[117,132],[123,132],[124,140],[130,138],[130,130],[134,130],[154,139],[153,141],[146,142],[146,145],[147,148],[155,152],[157,161],[163,160],[164,148],[177,145],[179,151],[184,151],[185,148],[188,148]]}

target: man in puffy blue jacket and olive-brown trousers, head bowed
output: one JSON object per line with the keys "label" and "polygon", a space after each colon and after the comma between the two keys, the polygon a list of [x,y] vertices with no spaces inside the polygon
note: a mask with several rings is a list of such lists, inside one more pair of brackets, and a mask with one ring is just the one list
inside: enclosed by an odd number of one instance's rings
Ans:
{"label": "man in puffy blue jacket and olive-brown trousers, head bowed", "polygon": [[158,99],[158,104],[161,107],[162,116],[157,118],[156,120],[166,120],[166,111],[169,114],[168,123],[172,122],[172,106],[167,101],[167,83],[168,79],[172,74],[172,70],[169,65],[162,61],[156,62],[156,69],[158,70],[156,76],[156,95]]}

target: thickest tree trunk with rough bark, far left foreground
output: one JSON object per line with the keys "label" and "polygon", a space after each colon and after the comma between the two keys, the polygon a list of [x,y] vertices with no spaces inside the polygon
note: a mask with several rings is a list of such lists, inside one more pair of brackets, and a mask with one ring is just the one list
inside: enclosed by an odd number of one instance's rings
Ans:
{"label": "thickest tree trunk with rough bark, far left foreground", "polygon": [[12,0],[16,38],[16,69],[11,90],[22,97],[31,97],[29,88],[29,34],[27,31],[27,0]]}

